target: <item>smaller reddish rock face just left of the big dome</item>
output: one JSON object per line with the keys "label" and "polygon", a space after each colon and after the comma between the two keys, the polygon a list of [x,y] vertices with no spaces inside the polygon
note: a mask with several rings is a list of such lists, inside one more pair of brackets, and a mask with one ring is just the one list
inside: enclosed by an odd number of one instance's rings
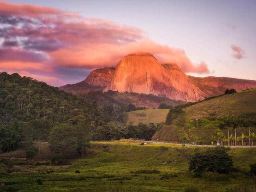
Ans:
{"label": "smaller reddish rock face just left of the big dome", "polygon": [[105,87],[111,81],[115,68],[100,68],[90,72],[86,80],[86,83],[92,86]]}

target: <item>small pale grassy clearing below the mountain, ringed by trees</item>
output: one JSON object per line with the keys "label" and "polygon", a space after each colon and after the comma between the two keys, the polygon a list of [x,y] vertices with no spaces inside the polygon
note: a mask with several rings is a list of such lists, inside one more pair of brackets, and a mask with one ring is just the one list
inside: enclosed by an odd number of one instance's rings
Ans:
{"label": "small pale grassy clearing below the mountain, ringed by trees", "polygon": [[125,124],[128,125],[130,122],[133,122],[134,125],[162,123],[165,122],[168,112],[169,109],[145,109],[128,112],[126,113]]}

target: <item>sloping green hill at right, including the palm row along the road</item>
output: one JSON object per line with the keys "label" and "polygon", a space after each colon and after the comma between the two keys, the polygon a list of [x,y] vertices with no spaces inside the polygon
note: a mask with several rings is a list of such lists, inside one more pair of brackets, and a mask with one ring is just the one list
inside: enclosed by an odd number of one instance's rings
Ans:
{"label": "sloping green hill at right, including the palm row along the road", "polygon": [[255,97],[256,88],[176,106],[168,113],[165,126],[159,128],[152,139],[255,145]]}

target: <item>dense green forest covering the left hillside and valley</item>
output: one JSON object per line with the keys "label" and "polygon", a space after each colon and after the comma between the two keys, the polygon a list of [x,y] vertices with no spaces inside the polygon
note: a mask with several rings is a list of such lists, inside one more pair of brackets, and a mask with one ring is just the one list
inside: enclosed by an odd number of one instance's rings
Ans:
{"label": "dense green forest covering the left hillside and valley", "polygon": [[30,138],[49,141],[58,127],[71,130],[76,148],[81,148],[82,140],[150,139],[156,130],[154,124],[124,126],[124,114],[141,109],[132,104],[89,104],[85,98],[17,73],[0,73],[0,109],[0,151],[14,150]]}

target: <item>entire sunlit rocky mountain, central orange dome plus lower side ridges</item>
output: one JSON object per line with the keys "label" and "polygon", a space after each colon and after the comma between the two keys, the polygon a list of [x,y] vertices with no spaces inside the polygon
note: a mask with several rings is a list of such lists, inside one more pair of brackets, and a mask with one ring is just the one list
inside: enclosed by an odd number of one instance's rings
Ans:
{"label": "entire sunlit rocky mountain, central orange dome plus lower side ridges", "polygon": [[195,102],[223,94],[227,88],[241,91],[254,87],[254,80],[187,76],[176,64],[160,64],[152,54],[137,52],[122,58],[116,68],[93,70],[84,81],[60,89],[74,94],[90,90],[136,92]]}

